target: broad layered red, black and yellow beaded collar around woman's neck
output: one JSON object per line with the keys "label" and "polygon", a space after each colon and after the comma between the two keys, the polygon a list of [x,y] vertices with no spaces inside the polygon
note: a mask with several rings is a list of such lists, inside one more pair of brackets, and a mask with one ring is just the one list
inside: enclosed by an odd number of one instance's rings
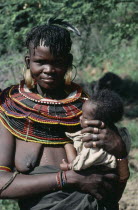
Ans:
{"label": "broad layered red, black and yellow beaded collar around woman's neck", "polygon": [[78,126],[82,105],[88,98],[75,83],[66,87],[67,98],[43,98],[24,84],[5,89],[0,97],[0,120],[16,137],[42,144],[70,142],[65,132]]}

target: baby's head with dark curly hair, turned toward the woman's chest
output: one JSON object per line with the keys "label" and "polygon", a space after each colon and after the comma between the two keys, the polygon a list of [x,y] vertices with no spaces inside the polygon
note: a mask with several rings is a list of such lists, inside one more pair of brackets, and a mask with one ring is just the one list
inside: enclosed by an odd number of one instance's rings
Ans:
{"label": "baby's head with dark curly hair, turned toward the woman's chest", "polygon": [[81,127],[87,127],[85,120],[100,120],[107,126],[112,126],[121,120],[123,112],[123,102],[120,96],[107,89],[101,90],[83,104],[80,117]]}

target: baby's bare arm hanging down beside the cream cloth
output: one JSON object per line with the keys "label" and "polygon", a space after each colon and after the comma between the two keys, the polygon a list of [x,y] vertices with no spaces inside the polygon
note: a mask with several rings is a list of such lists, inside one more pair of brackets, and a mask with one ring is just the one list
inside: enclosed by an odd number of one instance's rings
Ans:
{"label": "baby's bare arm hanging down beside the cream cloth", "polygon": [[71,162],[76,158],[77,152],[73,144],[70,144],[70,143],[65,144],[64,148],[66,151],[68,163],[63,159],[62,163],[60,164],[60,168],[63,171],[67,171],[71,169],[71,165],[72,165]]}

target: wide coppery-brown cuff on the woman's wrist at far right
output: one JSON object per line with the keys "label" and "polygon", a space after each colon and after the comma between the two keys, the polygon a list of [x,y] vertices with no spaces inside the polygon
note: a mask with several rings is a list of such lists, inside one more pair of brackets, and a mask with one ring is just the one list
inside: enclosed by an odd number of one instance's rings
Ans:
{"label": "wide coppery-brown cuff on the woman's wrist at far right", "polygon": [[129,178],[128,159],[117,159],[117,169],[120,182],[126,182]]}

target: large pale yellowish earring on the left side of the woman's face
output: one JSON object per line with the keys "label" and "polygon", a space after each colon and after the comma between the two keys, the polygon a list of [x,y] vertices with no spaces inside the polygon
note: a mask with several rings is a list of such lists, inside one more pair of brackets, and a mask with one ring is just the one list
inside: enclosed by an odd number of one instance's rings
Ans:
{"label": "large pale yellowish earring on the left side of the woman's face", "polygon": [[29,89],[34,88],[34,79],[32,78],[30,69],[26,69],[26,71],[24,71],[24,80]]}

